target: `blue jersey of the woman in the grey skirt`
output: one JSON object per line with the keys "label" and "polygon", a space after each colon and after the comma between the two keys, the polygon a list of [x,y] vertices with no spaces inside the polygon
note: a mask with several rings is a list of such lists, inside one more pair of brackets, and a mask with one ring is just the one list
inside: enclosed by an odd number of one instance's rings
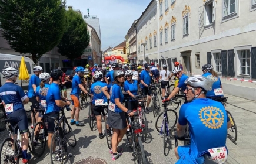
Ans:
{"label": "blue jersey of the woman in the grey skirt", "polygon": [[[124,101],[124,95],[122,94],[121,87],[118,86],[117,84],[113,84],[110,88],[110,102],[115,104],[115,98],[119,98],[119,101],[122,102]],[[123,112],[120,108],[118,108],[117,105],[115,105],[115,112]]]}

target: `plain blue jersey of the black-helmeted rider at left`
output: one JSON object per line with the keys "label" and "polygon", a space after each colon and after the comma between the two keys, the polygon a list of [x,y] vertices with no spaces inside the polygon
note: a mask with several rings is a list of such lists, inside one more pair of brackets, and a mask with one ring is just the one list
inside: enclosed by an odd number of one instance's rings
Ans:
{"label": "plain blue jersey of the black-helmeted rider at left", "polygon": [[56,83],[52,83],[49,86],[48,93],[46,95],[46,112],[45,114],[48,114],[50,112],[59,112],[61,110],[61,107],[58,107],[56,105],[55,100],[61,100],[61,93],[59,90],[59,85]]}

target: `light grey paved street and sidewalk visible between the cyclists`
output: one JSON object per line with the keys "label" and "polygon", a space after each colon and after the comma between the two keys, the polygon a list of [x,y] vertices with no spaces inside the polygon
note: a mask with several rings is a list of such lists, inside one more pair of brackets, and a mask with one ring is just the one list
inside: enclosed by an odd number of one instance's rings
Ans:
{"label": "light grey paved street and sidewalk visible between the cyclists", "polygon": [[[70,89],[67,90],[68,98],[70,98],[70,91]],[[255,163],[256,102],[234,97],[232,95],[225,96],[229,97],[226,108],[233,115],[238,131],[236,145],[227,139],[227,148],[229,150],[227,163]],[[29,105],[30,104],[25,105],[26,110],[29,110]],[[91,131],[89,128],[89,118],[87,118],[88,110],[89,106],[87,105],[80,113],[79,119],[85,122],[84,127],[76,127],[75,125],[71,125],[75,133],[75,137],[77,138],[77,146],[75,146],[75,148],[68,146],[68,152],[72,153],[73,156],[68,158],[65,163],[75,163],[89,157],[103,159],[107,163],[134,163],[131,160],[132,150],[129,147],[125,147],[125,142],[127,141],[125,136],[122,142],[119,144],[119,146],[124,148],[123,155],[116,161],[111,160],[106,139],[99,139],[98,131]],[[178,110],[179,109],[177,109],[177,113],[179,112]],[[70,119],[69,112],[66,112],[66,115],[68,119]],[[155,130],[156,119],[157,118],[154,118],[152,113],[147,114],[150,137],[147,139],[147,143],[143,143],[143,145],[148,163],[175,163],[177,161],[174,155],[175,142],[171,141],[172,145],[169,146],[169,153],[167,156],[164,156],[162,136],[160,136]],[[104,126],[104,122],[102,122],[102,126]],[[29,130],[31,130],[30,126]],[[3,141],[7,136],[8,132],[6,130],[0,132],[0,141]],[[178,145],[182,145],[182,143],[179,142]],[[48,147],[46,146],[45,153],[41,156],[41,158],[33,157],[29,163],[51,163]]]}

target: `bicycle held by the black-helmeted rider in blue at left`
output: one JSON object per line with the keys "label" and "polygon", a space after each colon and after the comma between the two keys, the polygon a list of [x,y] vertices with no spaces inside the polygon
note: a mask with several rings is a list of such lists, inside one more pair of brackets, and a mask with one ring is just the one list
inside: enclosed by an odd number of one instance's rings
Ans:
{"label": "bicycle held by the black-helmeted rider in blue at left", "polygon": [[[64,108],[65,107],[61,108],[61,118],[51,117],[55,120],[54,135],[52,135],[50,148],[51,163],[64,163],[64,160],[67,158],[67,156],[72,156],[71,153],[68,154],[67,152],[68,145],[72,147],[77,145],[77,139],[75,138],[72,128],[68,124]],[[66,110],[69,111],[67,108]],[[68,136],[68,134],[71,134],[71,136]]]}

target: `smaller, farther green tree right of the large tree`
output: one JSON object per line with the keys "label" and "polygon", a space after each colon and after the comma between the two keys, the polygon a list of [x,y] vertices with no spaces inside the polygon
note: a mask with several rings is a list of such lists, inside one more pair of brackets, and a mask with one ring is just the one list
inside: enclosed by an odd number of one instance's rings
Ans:
{"label": "smaller, farther green tree right of the large tree", "polygon": [[66,11],[66,29],[59,43],[58,52],[68,59],[74,60],[80,57],[85,48],[89,45],[89,32],[87,23],[82,19],[82,15],[72,9]]}

